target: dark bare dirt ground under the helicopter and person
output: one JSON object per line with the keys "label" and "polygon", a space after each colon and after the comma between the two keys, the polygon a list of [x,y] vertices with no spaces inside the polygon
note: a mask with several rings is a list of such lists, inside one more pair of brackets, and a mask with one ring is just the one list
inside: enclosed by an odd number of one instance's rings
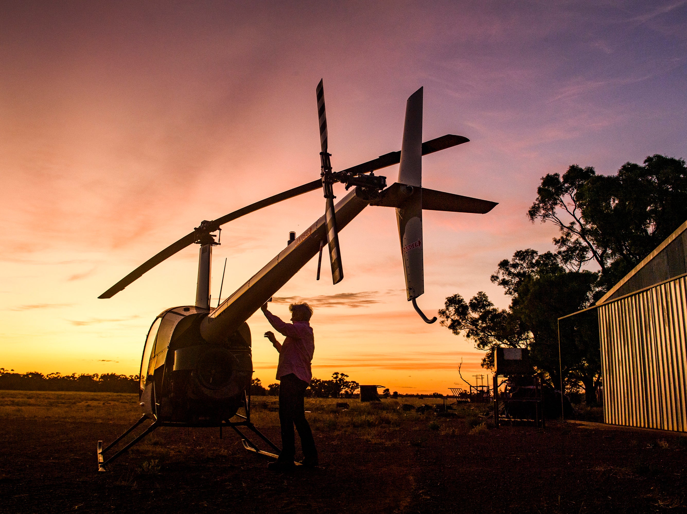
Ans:
{"label": "dark bare dirt ground under the helicopter and person", "polygon": [[[228,430],[162,428],[98,473],[96,441],[128,428],[137,401],[0,391],[0,512],[687,512],[678,434],[556,422],[475,430],[485,406],[453,419],[396,409],[428,400],[345,400],[348,410],[306,400],[317,469],[274,474]],[[279,442],[275,412],[256,408],[254,421]]]}

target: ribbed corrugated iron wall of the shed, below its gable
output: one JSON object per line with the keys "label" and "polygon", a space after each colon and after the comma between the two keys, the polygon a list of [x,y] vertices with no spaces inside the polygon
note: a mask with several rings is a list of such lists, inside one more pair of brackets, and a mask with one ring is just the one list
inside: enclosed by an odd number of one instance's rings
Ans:
{"label": "ribbed corrugated iron wall of the shed, below its gable", "polygon": [[687,431],[687,277],[600,305],[604,421]]}

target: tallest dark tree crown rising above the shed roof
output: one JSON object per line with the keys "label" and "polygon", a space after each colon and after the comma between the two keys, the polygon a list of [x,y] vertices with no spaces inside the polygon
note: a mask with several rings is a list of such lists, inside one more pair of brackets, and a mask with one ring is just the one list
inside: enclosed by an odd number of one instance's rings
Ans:
{"label": "tallest dark tree crown rising above the shed roof", "polygon": [[558,226],[553,242],[566,268],[596,261],[603,294],[687,219],[687,167],[659,154],[614,175],[572,165],[541,178],[528,216]]}

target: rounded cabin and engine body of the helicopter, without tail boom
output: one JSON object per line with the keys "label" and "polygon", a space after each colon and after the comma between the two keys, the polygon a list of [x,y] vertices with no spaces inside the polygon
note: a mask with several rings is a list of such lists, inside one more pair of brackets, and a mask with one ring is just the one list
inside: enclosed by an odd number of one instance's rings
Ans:
{"label": "rounded cabin and engine body of the helicopter, without tail boom", "polygon": [[141,381],[142,408],[150,417],[216,425],[243,405],[253,375],[250,329],[243,323],[223,340],[207,342],[199,330],[207,312],[175,307],[150,328]]}

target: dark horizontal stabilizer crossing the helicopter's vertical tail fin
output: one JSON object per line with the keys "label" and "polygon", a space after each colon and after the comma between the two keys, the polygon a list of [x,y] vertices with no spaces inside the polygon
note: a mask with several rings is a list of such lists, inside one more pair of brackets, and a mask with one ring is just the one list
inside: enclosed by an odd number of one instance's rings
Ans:
{"label": "dark horizontal stabilizer crossing the helicopter's vertical tail fin", "polygon": [[480,200],[460,194],[444,193],[426,187],[412,187],[405,184],[394,183],[384,189],[379,194],[379,200],[375,200],[370,205],[379,207],[401,207],[409,198],[417,194],[418,189],[422,190],[423,210],[425,211],[450,211],[484,214],[493,209],[498,202]]}

